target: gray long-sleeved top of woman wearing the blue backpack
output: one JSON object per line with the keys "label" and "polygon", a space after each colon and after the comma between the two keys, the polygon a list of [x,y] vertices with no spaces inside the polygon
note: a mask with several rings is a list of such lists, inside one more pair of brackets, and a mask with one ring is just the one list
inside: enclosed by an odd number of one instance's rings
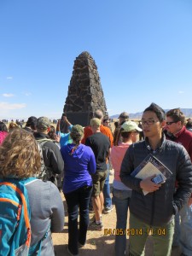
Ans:
{"label": "gray long-sleeved top of woman wearing the blue backpack", "polygon": [[53,256],[54,247],[51,232],[61,232],[64,226],[64,207],[59,190],[54,183],[35,180],[26,184],[31,207],[31,246],[40,241],[47,230],[48,236],[42,241],[41,256]]}

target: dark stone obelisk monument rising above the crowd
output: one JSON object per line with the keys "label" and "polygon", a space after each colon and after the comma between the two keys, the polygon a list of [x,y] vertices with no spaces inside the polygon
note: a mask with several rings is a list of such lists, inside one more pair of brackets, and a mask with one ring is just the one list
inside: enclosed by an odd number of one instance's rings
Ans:
{"label": "dark stone obelisk monument rising above the crowd", "polygon": [[74,61],[63,112],[73,125],[86,126],[96,109],[102,110],[104,115],[107,112],[96,62],[84,51]]}

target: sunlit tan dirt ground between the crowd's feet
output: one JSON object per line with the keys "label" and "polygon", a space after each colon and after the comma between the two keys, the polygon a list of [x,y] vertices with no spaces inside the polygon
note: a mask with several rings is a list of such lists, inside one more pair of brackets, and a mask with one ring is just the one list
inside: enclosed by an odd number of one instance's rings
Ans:
{"label": "sunlit tan dirt ground between the crowd's feet", "polygon": [[[110,184],[113,183],[113,175],[110,176]],[[61,197],[63,199],[64,207],[65,207],[65,226],[64,230],[61,233],[53,234],[53,242],[55,247],[55,255],[56,256],[65,256],[69,255],[67,253],[67,205],[64,196],[61,193]],[[93,217],[93,214],[90,214],[90,218]],[[105,229],[115,229],[116,225],[116,212],[115,208],[112,212],[108,214],[102,215],[104,229],[102,231],[99,230],[88,230],[87,232],[87,241],[84,248],[79,249],[79,256],[105,256],[105,255],[114,255],[114,236],[105,236]],[[127,237],[127,249],[129,244],[129,237]],[[128,250],[127,250],[128,252]],[[128,253],[126,254],[128,255]],[[153,255],[153,239],[152,237],[148,237],[148,241],[146,243],[145,255],[152,256]],[[178,256],[180,252],[178,248],[172,250],[172,256]],[[166,256],[166,255],[162,255]]]}

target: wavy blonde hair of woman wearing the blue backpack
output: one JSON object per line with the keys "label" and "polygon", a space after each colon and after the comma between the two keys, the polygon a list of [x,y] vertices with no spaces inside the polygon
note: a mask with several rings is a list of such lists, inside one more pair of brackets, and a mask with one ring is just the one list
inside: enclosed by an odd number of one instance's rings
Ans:
{"label": "wavy blonde hair of woman wearing the blue backpack", "polygon": [[38,174],[41,159],[31,132],[15,128],[0,147],[0,177],[26,178]]}

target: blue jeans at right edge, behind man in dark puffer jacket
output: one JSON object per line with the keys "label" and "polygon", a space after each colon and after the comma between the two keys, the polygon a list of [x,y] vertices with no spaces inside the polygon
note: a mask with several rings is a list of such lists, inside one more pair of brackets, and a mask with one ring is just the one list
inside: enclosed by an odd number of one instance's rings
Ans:
{"label": "blue jeans at right edge, behind man in dark puffer jacket", "polygon": [[173,246],[180,246],[182,253],[192,255],[192,206],[187,204],[175,216],[176,226]]}

